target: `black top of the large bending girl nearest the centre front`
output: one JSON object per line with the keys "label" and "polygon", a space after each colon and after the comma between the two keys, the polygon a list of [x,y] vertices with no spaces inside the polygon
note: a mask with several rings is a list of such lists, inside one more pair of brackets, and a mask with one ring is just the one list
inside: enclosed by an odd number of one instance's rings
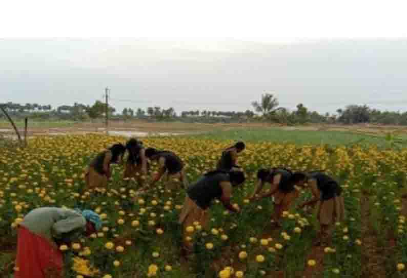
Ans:
{"label": "black top of the large bending girl nearest the centre front", "polygon": [[201,209],[211,206],[215,198],[222,196],[221,182],[229,182],[229,175],[226,173],[216,173],[201,177],[197,182],[190,185],[187,194]]}

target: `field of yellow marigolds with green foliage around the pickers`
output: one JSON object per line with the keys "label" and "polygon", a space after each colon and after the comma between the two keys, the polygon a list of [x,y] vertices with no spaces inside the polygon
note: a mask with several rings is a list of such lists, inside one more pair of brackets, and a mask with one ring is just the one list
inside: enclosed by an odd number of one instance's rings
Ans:
{"label": "field of yellow marigolds with green foliage around the pickers", "polygon": [[[87,191],[83,173],[99,151],[126,138],[104,135],[41,136],[27,148],[0,149],[0,277],[11,277],[16,225],[40,206],[90,208],[107,223],[65,253],[66,277],[405,277],[407,149],[248,143],[238,164],[247,181],[232,202],[242,213],[211,208],[211,224],[188,227],[195,242],[190,260],[180,259],[178,215],[185,191],[159,182],[135,196],[137,184],[114,166],[108,188]],[[189,182],[214,168],[232,141],[189,137],[146,138],[146,146],[173,150],[184,160]],[[333,243],[313,247],[314,211],[284,213],[281,229],[270,225],[271,200],[249,202],[261,167],[326,170],[343,187],[346,220],[336,223]],[[154,172],[153,165],[151,172]],[[146,177],[148,184],[150,177]],[[310,197],[301,194],[302,202]],[[188,235],[187,232],[187,235]],[[406,271],[406,272],[405,272]]]}

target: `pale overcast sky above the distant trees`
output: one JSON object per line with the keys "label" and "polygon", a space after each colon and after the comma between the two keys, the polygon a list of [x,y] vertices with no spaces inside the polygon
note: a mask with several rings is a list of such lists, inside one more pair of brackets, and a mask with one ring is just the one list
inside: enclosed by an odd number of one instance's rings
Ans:
{"label": "pale overcast sky above the distant trees", "polygon": [[405,1],[7,1],[0,102],[407,110]]}

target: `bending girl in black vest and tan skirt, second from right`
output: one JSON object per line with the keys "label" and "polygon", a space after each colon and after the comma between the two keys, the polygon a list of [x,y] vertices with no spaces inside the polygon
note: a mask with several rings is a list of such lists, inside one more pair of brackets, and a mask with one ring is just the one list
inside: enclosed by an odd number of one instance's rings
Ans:
{"label": "bending girl in black vest and tan skirt, second from right", "polygon": [[[263,197],[274,197],[274,213],[272,222],[280,226],[280,219],[283,211],[288,211],[296,198],[299,196],[295,186],[303,186],[307,180],[304,173],[293,173],[285,168],[260,169],[257,172],[259,180],[256,191],[251,200],[259,200]],[[270,183],[271,188],[268,192],[259,194],[265,183]]]}

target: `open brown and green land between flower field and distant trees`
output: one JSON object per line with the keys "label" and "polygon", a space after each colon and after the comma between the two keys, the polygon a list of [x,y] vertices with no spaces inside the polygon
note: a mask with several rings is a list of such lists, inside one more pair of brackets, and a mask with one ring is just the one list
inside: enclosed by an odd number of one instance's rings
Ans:
{"label": "open brown and green land between flower field and distant trees", "polygon": [[[23,134],[23,123],[17,123]],[[196,138],[216,140],[244,140],[248,142],[271,141],[295,144],[349,145],[354,143],[376,144],[380,147],[389,144],[386,134],[395,132],[394,141],[405,146],[407,127],[374,125],[307,125],[278,126],[269,124],[185,124],[147,123],[143,121],[111,122],[111,135],[145,137],[148,135],[190,135]],[[28,136],[105,133],[103,123],[29,123]],[[0,135],[14,136],[9,123],[0,122]]]}

